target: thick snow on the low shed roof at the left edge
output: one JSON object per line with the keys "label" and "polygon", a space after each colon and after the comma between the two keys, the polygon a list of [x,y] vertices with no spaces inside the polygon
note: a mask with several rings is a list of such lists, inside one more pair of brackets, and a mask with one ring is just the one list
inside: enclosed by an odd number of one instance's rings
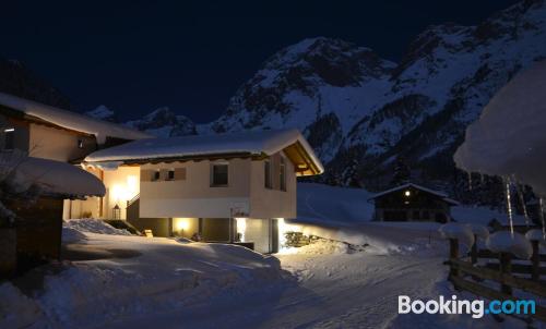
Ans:
{"label": "thick snow on the low shed roof at the left edge", "polygon": [[99,179],[79,167],[20,153],[0,153],[0,178],[17,191],[36,184],[44,195],[54,197],[84,198],[106,193]]}

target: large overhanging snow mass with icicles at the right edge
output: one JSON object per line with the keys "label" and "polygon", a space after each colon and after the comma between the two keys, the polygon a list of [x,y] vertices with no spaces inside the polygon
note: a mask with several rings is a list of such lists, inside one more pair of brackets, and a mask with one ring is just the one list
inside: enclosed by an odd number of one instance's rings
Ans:
{"label": "large overhanging snow mass with icicles at the right edge", "polygon": [[453,159],[472,172],[511,176],[546,196],[546,61],[513,77],[466,129]]}

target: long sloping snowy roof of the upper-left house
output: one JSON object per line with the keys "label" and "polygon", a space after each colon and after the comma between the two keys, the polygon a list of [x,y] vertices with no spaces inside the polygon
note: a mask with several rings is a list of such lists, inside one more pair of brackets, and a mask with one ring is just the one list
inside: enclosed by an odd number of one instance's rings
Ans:
{"label": "long sloping snowy roof of the upper-left house", "polygon": [[152,137],[123,125],[96,120],[87,115],[0,93],[0,105],[21,111],[64,129],[95,135],[98,144],[104,144],[106,137],[123,139],[142,139]]}

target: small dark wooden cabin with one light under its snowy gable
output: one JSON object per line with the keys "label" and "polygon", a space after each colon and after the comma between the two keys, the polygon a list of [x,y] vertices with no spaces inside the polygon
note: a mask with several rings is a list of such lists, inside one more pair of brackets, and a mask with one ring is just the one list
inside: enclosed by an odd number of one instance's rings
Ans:
{"label": "small dark wooden cabin with one light under its snowy gable", "polygon": [[451,220],[451,206],[458,202],[447,194],[413,183],[400,185],[373,195],[378,221],[436,221]]}

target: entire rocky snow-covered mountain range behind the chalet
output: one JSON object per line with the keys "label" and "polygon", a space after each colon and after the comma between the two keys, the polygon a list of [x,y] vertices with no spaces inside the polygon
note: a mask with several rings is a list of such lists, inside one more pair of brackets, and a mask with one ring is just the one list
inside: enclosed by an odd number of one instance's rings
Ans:
{"label": "entire rocky snow-covered mountain range behind the chalet", "polygon": [[356,178],[384,187],[400,156],[414,180],[452,183],[465,127],[518,71],[544,58],[544,0],[477,26],[430,26],[400,63],[343,40],[306,39],[271,57],[206,127],[298,127],[328,164],[321,180],[331,183]]}

